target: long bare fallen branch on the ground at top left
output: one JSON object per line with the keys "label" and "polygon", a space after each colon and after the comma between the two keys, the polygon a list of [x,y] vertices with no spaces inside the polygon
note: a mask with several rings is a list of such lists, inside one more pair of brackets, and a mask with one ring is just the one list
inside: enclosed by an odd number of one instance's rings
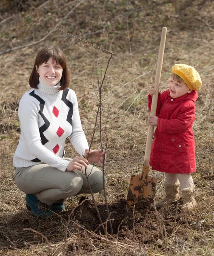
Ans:
{"label": "long bare fallen branch on the ground at top left", "polygon": [[[66,14],[66,16],[64,16],[63,19],[60,20],[60,21],[57,23],[56,26],[54,26],[54,28],[57,28],[57,26],[59,26],[64,20],[66,20],[66,19],[68,18],[68,16],[69,16],[78,6],[80,6],[80,4],[83,3],[84,1],[85,1],[85,0],[82,0],[82,1],[80,1],[79,3],[77,3],[77,5],[74,6],[74,8],[71,9],[71,11],[68,12],[68,14]],[[51,27],[53,27],[53,26],[51,26]],[[55,29],[51,29],[51,31],[50,31],[46,36],[44,36],[43,38],[41,38],[41,39],[38,40],[38,41],[32,42],[32,43],[30,43],[30,44],[26,44],[26,45],[21,45],[21,46],[18,46],[18,47],[11,47],[10,49],[7,49],[7,50],[4,50],[4,51],[0,52],[0,55],[2,55],[2,54],[4,54],[4,53],[11,52],[11,51],[14,51],[14,50],[22,49],[22,48],[25,48],[25,47],[30,47],[30,46],[32,46],[32,45],[34,45],[34,44],[39,44],[39,43],[45,41],[46,38],[49,37],[49,35],[51,35],[52,32],[54,32],[54,30],[55,30]]]}

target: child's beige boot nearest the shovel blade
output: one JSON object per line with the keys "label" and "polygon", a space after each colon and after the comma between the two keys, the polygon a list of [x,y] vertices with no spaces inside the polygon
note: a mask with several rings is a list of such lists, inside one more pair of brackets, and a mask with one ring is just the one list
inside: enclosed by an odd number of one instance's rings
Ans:
{"label": "child's beige boot nearest the shovel blade", "polygon": [[156,207],[164,207],[168,206],[169,204],[172,204],[174,202],[177,202],[180,198],[179,195],[179,187],[180,183],[166,183],[164,181],[163,186],[165,188],[166,196],[163,198],[160,202],[156,204]]}

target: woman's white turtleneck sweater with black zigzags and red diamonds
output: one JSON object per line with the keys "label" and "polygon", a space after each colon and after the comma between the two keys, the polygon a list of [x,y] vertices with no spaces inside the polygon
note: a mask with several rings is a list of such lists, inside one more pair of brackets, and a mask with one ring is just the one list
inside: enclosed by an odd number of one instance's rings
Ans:
{"label": "woman's white turtleneck sweater with black zigzags and red diamonds", "polygon": [[78,102],[73,90],[58,91],[60,82],[50,87],[40,79],[38,89],[31,89],[20,100],[18,115],[21,126],[14,167],[46,163],[65,172],[69,161],[63,159],[67,137],[83,156],[88,148],[82,129]]}

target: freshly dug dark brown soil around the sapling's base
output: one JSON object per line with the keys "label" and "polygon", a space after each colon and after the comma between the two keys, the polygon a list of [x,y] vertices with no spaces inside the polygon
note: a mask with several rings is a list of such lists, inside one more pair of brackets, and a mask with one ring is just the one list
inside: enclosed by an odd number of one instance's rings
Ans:
{"label": "freshly dug dark brown soil around the sapling's base", "polygon": [[[80,202],[85,199],[85,197],[81,197]],[[135,239],[143,243],[154,243],[159,238],[160,220],[158,219],[158,212],[154,207],[151,206],[151,209],[140,209],[133,212],[132,209],[128,208],[127,201],[123,198],[123,195],[121,195],[120,200],[114,204],[109,204],[108,207],[111,213],[113,233],[119,238]],[[97,205],[97,208],[103,223],[105,223],[108,218],[106,205],[100,204]],[[78,207],[74,215],[80,225],[87,230],[103,233],[92,201],[89,200],[86,204]],[[107,231],[110,233],[109,224]]]}

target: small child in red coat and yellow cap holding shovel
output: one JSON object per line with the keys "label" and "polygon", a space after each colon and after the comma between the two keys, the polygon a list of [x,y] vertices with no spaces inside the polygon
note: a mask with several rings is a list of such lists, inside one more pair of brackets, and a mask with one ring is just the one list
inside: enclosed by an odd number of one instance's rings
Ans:
{"label": "small child in red coat and yellow cap holding shovel", "polygon": [[[166,196],[157,203],[163,207],[176,202],[179,187],[182,195],[182,210],[197,205],[194,199],[194,183],[191,173],[195,172],[195,143],[192,125],[195,119],[195,101],[202,81],[194,67],[175,64],[169,88],[159,92],[156,116],[149,116],[148,124],[157,126],[151,147],[150,166],[153,170],[166,173],[164,187]],[[154,87],[148,95],[151,110]]]}

